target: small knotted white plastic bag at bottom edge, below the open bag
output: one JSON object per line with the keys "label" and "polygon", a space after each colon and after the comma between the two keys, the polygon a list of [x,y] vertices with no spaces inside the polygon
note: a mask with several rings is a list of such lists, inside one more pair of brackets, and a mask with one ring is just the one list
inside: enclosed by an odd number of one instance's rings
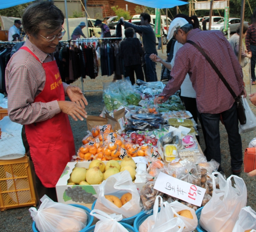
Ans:
{"label": "small knotted white plastic bag at bottom edge, below the open bag", "polygon": [[118,221],[122,220],[122,215],[108,215],[101,210],[92,210],[93,217],[100,219],[95,225],[94,232],[128,232]]}

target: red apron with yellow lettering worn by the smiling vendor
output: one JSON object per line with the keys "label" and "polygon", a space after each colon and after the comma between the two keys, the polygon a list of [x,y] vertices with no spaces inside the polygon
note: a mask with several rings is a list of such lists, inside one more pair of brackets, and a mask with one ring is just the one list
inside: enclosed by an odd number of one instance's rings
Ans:
{"label": "red apron with yellow lettering worn by the smiling vendor", "polygon": [[[28,47],[22,47],[37,59]],[[59,69],[56,61],[41,63],[45,70],[45,88],[34,102],[65,101]],[[35,173],[46,188],[55,188],[67,162],[75,155],[75,145],[68,115],[60,112],[43,122],[25,125],[30,154]]]}

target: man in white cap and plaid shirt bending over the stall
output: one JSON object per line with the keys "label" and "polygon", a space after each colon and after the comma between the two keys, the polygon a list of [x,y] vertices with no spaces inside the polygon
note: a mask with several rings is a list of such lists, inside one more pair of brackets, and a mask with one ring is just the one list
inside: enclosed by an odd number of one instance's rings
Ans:
{"label": "man in white cap and plaid shirt bending over the stall", "polygon": [[[155,99],[155,103],[166,101],[179,90],[188,73],[196,91],[197,108],[206,131],[205,142],[208,148],[206,157],[221,164],[219,120],[222,116],[228,133],[232,172],[238,175],[241,172],[243,155],[234,98],[204,55],[187,41],[194,42],[204,50],[236,96],[243,94],[246,97],[243,72],[236,55],[221,31],[193,29],[184,18],[175,18],[171,22],[168,34],[170,38],[175,38],[184,46],[176,53],[174,66],[171,69],[172,79]],[[221,166],[219,171],[223,171]]]}

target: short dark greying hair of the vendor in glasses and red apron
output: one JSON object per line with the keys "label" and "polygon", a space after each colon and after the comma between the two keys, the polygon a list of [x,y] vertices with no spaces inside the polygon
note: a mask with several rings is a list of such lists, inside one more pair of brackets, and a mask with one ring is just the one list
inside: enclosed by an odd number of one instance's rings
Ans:
{"label": "short dark greying hair of the vendor in glasses and red apron", "polygon": [[47,29],[47,34],[56,31],[64,23],[62,11],[52,0],[39,0],[30,4],[23,12],[22,26],[27,34],[37,38],[40,29]]}

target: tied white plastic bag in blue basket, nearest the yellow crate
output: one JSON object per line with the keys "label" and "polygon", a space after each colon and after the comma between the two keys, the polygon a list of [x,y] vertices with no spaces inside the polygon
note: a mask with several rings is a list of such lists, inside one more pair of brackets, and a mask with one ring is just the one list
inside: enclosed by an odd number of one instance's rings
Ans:
{"label": "tied white plastic bag in blue basket, nearest the yellow crate", "polygon": [[40,232],[78,232],[87,223],[87,214],[81,208],[45,199],[39,209],[30,214]]}

